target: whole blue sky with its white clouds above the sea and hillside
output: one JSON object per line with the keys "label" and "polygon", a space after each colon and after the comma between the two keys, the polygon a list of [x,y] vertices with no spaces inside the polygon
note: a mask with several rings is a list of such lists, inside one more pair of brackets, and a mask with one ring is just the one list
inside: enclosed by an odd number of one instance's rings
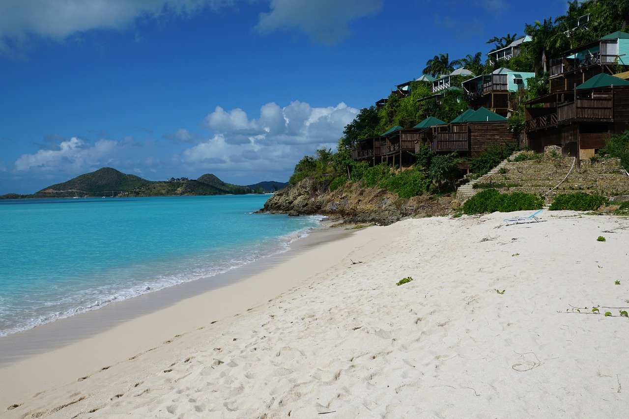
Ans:
{"label": "whole blue sky with its white clouds above the sea and hillside", "polygon": [[438,53],[564,0],[1,0],[0,194],[101,167],[287,181]]}

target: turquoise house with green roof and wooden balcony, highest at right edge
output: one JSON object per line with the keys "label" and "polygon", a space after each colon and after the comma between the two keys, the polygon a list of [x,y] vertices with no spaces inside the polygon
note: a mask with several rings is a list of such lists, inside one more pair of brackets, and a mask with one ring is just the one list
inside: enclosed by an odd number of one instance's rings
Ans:
{"label": "turquoise house with green roof and wooden balcony, highest at right edge", "polygon": [[629,69],[629,33],[621,31],[550,60],[550,93],[571,91],[597,74],[614,74],[618,65]]}

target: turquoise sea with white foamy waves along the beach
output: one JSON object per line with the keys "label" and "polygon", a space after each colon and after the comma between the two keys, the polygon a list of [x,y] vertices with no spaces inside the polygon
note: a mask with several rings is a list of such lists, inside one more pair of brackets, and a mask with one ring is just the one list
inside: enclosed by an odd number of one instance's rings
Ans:
{"label": "turquoise sea with white foamy waves along the beach", "polygon": [[268,195],[0,201],[0,336],[225,272],[320,225]]}

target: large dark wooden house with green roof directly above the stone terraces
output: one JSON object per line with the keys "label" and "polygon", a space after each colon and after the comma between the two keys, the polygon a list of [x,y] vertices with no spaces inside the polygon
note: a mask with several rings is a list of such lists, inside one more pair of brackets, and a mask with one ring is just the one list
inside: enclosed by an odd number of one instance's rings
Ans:
{"label": "large dark wooden house with green roof directly above the stone terraces", "polygon": [[542,152],[559,145],[578,162],[592,157],[610,134],[629,130],[629,81],[600,73],[571,91],[554,91],[525,106],[529,147]]}

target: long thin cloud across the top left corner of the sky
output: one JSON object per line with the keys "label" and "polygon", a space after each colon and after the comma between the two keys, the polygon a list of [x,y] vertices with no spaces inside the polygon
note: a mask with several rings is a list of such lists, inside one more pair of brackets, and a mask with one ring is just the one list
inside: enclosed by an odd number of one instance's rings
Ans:
{"label": "long thin cloud across the top left corner of the sky", "polygon": [[[128,28],[142,16],[187,15],[230,0],[3,0],[0,2],[0,52],[7,42],[22,44],[37,35],[63,40],[73,33]],[[137,37],[137,35],[136,35]]]}

